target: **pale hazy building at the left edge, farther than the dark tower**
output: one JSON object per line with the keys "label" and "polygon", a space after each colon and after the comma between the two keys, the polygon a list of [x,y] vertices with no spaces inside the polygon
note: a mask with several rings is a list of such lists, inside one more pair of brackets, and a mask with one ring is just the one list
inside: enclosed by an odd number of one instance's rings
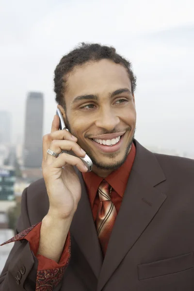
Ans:
{"label": "pale hazy building at the left edge, farther than the dark tower", "polygon": [[11,143],[11,113],[0,111],[0,144]]}

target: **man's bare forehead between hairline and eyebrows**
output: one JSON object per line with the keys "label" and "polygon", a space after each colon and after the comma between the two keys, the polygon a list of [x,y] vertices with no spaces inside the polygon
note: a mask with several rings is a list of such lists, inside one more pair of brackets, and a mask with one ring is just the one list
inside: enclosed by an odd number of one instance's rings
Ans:
{"label": "man's bare forehead between hairline and eyebrows", "polygon": [[77,66],[67,77],[66,102],[84,94],[105,94],[120,88],[129,88],[131,84],[127,69],[111,60],[88,62]]}

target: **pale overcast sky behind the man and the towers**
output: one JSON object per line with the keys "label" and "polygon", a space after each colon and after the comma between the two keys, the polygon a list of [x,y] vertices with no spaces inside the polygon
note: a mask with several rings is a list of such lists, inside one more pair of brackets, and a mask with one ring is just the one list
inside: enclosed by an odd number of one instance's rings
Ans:
{"label": "pale overcast sky behind the man and the towers", "polygon": [[54,68],[80,42],[113,45],[132,62],[142,145],[194,153],[193,0],[0,0],[0,110],[13,115],[14,142],[28,91],[44,93],[50,131]]}

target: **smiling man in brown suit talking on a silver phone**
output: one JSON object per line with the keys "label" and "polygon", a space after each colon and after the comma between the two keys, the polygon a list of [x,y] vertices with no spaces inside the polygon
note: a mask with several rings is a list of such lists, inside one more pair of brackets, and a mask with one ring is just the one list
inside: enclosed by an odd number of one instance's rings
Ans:
{"label": "smiling man in brown suit talking on a silver phone", "polygon": [[55,115],[44,179],[22,194],[0,291],[193,291],[194,161],[134,139],[131,64],[82,44],[57,65],[54,84],[69,131]]}

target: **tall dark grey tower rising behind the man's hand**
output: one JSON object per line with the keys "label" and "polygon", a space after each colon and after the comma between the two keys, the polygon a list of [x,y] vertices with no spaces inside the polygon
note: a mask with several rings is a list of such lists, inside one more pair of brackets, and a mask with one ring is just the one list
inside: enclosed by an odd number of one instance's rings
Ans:
{"label": "tall dark grey tower rising behind the man's hand", "polygon": [[30,92],[26,103],[24,167],[39,168],[42,164],[43,94]]}

